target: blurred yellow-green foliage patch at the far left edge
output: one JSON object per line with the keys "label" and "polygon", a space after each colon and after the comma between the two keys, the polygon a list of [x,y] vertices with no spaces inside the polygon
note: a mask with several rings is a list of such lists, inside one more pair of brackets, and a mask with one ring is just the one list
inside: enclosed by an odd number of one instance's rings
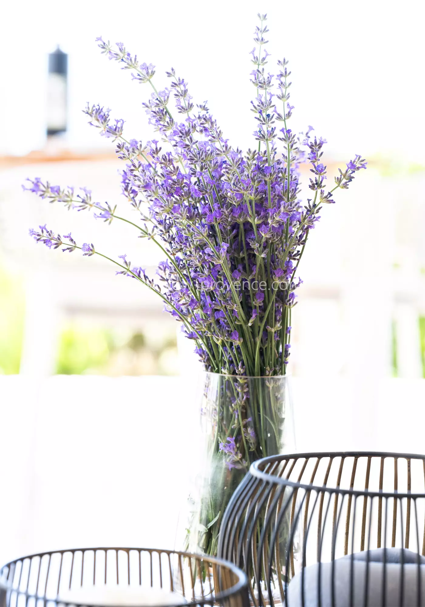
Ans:
{"label": "blurred yellow-green foliage patch at the far left edge", "polygon": [[0,263],[0,373],[19,373],[24,334],[25,295],[20,276]]}

